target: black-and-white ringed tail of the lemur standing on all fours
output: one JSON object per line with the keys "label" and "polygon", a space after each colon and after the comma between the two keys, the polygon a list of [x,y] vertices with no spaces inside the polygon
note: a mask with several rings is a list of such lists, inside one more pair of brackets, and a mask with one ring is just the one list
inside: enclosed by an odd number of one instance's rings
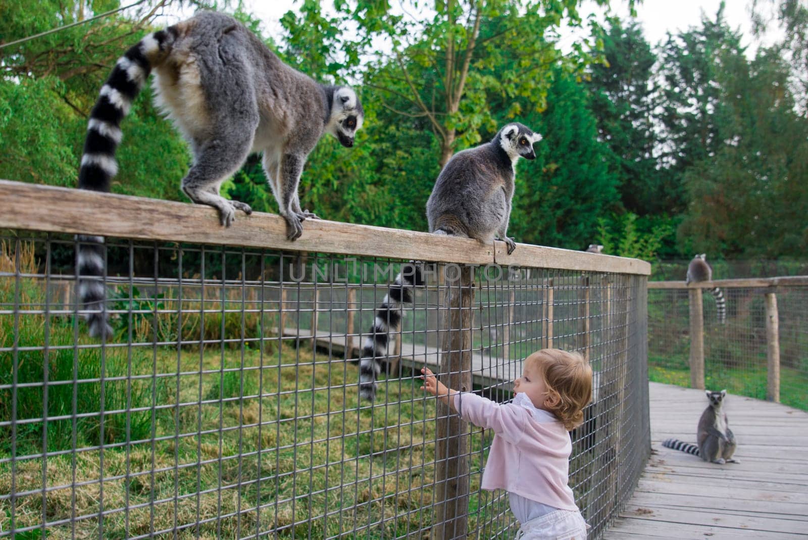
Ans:
{"label": "black-and-white ringed tail of the lemur standing on all fours", "polygon": [[[166,57],[177,35],[176,27],[168,27],[145,36],[126,51],[112,68],[112,74],[101,87],[99,99],[90,112],[82,167],[78,172],[79,188],[109,191],[110,180],[118,172],[115,151],[123,137],[120,120],[129,112],[152,67]],[[112,332],[112,327],[107,323],[105,306],[104,239],[103,236],[80,234],[77,240],[78,297],[84,309],[89,311],[86,318],[90,335],[103,337]]]}

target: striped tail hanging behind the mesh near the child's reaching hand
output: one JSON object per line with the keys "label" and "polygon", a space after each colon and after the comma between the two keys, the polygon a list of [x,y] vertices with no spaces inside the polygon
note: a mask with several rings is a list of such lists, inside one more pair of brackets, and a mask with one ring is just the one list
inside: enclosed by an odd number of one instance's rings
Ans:
{"label": "striped tail hanging behind the mesh near the child's reaching hand", "polygon": [[376,311],[373,327],[364,341],[359,364],[359,394],[364,399],[376,395],[376,379],[386,366],[387,345],[390,331],[398,330],[404,316],[402,308],[412,303],[413,287],[423,285],[423,267],[419,262],[407,263],[396,276],[385,299]]}

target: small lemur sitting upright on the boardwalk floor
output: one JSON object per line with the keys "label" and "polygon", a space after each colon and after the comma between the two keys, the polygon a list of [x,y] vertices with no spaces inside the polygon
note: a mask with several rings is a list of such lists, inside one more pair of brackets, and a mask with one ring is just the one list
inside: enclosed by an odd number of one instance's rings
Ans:
{"label": "small lemur sitting upright on the boardwalk floor", "polygon": [[699,456],[705,462],[740,463],[739,460],[732,458],[737,444],[735,436],[726,422],[726,413],[722,411],[726,390],[720,392],[705,390],[705,394],[709,399],[709,406],[701,413],[699,419],[699,427],[696,431],[698,446],[676,439],[663,441],[662,445]]}

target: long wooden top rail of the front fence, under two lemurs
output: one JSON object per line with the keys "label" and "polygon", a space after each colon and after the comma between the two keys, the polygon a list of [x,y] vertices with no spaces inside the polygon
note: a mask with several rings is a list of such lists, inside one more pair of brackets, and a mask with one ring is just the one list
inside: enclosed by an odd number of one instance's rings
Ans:
{"label": "long wooden top rail of the front fence, under two lemurs", "polygon": [[[495,247],[469,238],[452,238],[412,230],[386,229],[325,220],[306,220],[303,236],[286,239],[286,222],[275,214],[238,214],[233,226],[221,227],[217,211],[207,205],[113,195],[0,180],[0,200],[14,212],[0,213],[0,228],[95,234],[120,238],[166,240],[229,246],[423,259],[457,264],[515,264],[584,272],[650,275],[639,259],[597,255],[518,244],[507,255],[505,243]],[[59,212],[43,212],[58,208]],[[92,212],[102,209],[103,212]],[[379,238],[384,238],[380,242]]]}

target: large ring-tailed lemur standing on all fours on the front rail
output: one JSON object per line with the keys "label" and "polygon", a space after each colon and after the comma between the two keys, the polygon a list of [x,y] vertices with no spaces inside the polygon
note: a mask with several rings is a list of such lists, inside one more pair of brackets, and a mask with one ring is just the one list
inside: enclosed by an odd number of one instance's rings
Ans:
{"label": "large ring-tailed lemur standing on all fours on the front rail", "polygon": [[[182,181],[195,203],[219,212],[230,226],[249,205],[219,195],[222,182],[248,154],[263,153],[263,169],[287,223],[289,240],[301,222],[317,217],[301,209],[297,184],[309,152],[324,133],[353,146],[364,111],[356,92],[327,86],[284,64],[236,19],[204,11],[145,36],[128,49],[102,86],[90,112],[78,187],[109,191],[117,172],[120,121],[154,70],[155,101],[191,146],[194,160]],[[103,238],[78,237],[78,291],[90,334],[110,331],[103,306]]]}

